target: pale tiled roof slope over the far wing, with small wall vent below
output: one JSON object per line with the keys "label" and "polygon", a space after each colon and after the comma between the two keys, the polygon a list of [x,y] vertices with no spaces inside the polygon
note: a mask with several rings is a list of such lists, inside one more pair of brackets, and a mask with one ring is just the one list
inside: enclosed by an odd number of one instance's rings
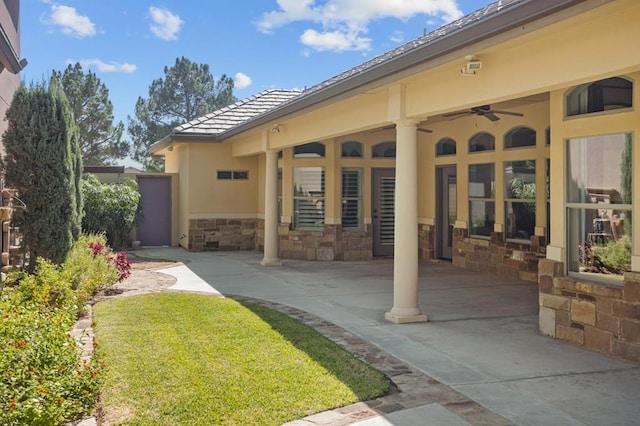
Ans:
{"label": "pale tiled roof slope over the far wing, with small wall vent below", "polygon": [[267,112],[301,93],[301,90],[265,90],[182,124],[176,127],[172,134],[216,135]]}

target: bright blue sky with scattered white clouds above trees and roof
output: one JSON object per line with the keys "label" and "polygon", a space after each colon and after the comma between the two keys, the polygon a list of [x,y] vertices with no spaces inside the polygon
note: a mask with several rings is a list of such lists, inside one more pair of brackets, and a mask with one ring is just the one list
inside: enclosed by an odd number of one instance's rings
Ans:
{"label": "bright blue sky with scattered white clouds above trees and roof", "polygon": [[326,80],[488,0],[22,0],[22,78],[80,62],[126,124],[179,56],[235,80],[239,99]]}

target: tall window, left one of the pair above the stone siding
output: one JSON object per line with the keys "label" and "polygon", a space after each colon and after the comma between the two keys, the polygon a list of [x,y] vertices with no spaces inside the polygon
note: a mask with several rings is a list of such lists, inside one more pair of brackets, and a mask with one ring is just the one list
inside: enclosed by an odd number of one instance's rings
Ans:
{"label": "tall window, left one of the pair above the stone siding", "polygon": [[469,165],[469,235],[490,237],[496,221],[495,166]]}

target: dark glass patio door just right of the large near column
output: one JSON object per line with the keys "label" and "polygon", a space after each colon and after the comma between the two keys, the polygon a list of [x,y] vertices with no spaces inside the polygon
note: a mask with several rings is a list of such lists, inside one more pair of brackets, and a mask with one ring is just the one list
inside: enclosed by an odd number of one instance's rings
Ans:
{"label": "dark glass patio door just right of the large near column", "polygon": [[458,187],[456,166],[436,168],[436,256],[453,258],[453,227],[458,216]]}

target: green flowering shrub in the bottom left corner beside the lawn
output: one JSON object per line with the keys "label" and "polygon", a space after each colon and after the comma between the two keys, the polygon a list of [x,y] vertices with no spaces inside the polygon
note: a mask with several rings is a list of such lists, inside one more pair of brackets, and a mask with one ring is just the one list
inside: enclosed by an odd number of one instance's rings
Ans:
{"label": "green flowering shrub in the bottom left corner beside the lawn", "polygon": [[0,296],[0,424],[59,425],[95,404],[103,366],[80,361],[74,317]]}

